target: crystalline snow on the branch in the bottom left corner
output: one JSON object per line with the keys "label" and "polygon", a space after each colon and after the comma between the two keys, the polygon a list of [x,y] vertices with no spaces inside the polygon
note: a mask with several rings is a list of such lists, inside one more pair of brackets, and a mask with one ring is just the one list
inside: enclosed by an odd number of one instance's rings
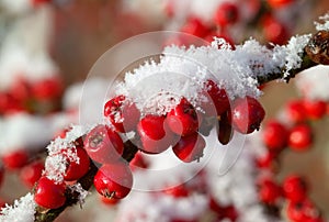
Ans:
{"label": "crystalline snow on the branch in the bottom left corner", "polygon": [[1,209],[1,222],[33,222],[36,203],[34,196],[27,193],[26,196],[15,200],[13,206],[5,206]]}

